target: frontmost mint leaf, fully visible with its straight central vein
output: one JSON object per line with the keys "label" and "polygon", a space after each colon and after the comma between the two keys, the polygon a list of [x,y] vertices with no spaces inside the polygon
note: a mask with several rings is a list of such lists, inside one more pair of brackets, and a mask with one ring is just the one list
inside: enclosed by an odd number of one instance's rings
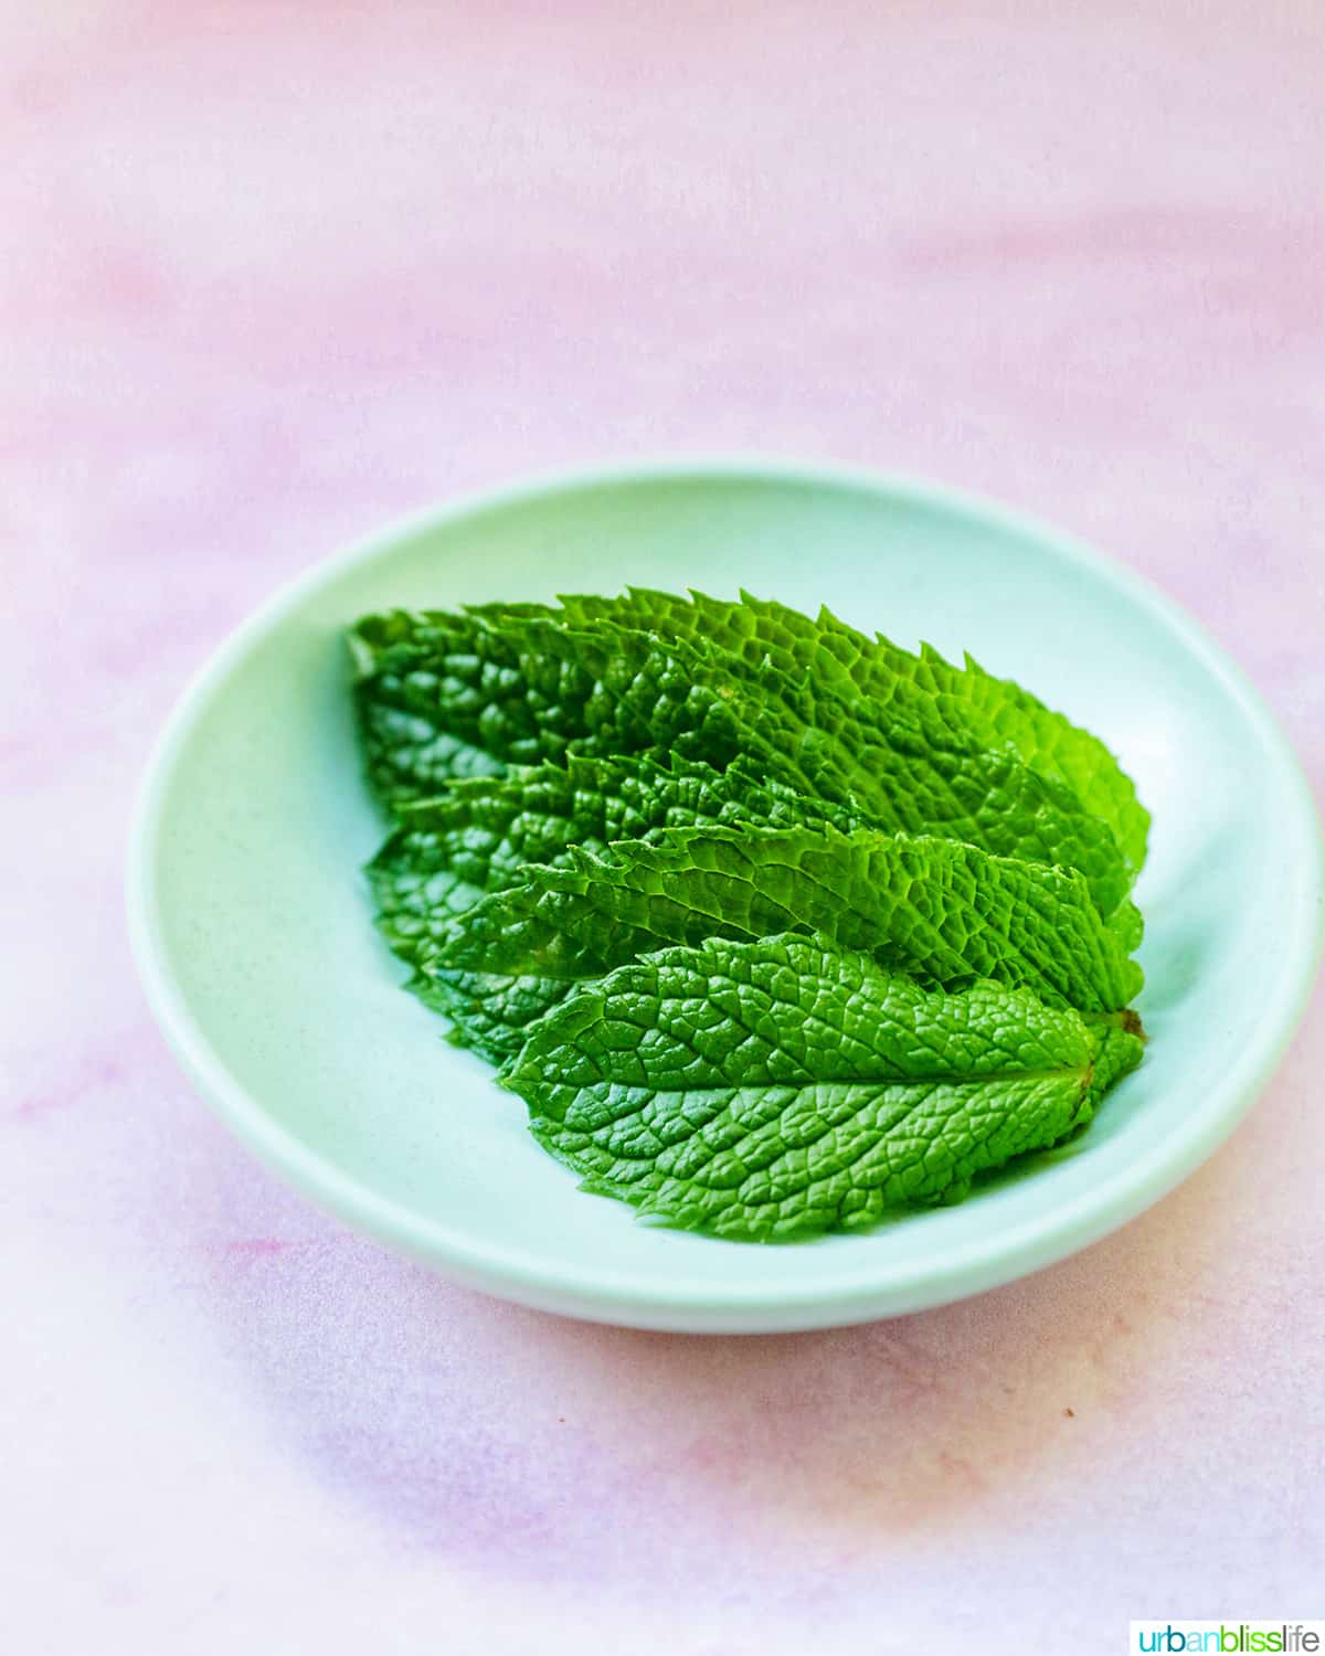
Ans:
{"label": "frontmost mint leaf, fully visible with its straight central vein", "polygon": [[502,1073],[545,1149],[672,1225],[858,1230],[1057,1144],[1141,1057],[1025,990],[926,992],[822,937],[709,939],[580,989]]}

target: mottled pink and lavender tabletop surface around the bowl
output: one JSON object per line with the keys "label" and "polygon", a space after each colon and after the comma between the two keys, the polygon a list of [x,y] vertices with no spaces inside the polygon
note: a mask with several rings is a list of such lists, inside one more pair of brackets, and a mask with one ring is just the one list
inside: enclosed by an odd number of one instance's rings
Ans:
{"label": "mottled pink and lavender tabletop surface around the bowl", "polygon": [[278,581],[638,452],[1058,518],[1211,628],[1320,788],[1323,86],[1315,0],[5,7],[0,1649],[1325,1615],[1320,1002],[1085,1255],[676,1338],[452,1288],[282,1189],[167,1055],[119,894],[166,710]]}

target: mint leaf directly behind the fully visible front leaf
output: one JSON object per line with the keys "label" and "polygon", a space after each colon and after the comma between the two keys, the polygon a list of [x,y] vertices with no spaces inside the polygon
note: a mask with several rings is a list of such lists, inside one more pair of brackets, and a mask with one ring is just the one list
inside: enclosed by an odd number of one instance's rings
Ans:
{"label": "mint leaf directly behind the fully visible front leaf", "polygon": [[667,942],[825,932],[926,985],[995,979],[1050,1005],[1115,1013],[1141,987],[1128,959],[1141,919],[1100,917],[1070,869],[976,846],[825,826],[674,830],[661,843],[568,853],[406,952],[459,1038],[510,1055],[533,1017],[576,984]]}

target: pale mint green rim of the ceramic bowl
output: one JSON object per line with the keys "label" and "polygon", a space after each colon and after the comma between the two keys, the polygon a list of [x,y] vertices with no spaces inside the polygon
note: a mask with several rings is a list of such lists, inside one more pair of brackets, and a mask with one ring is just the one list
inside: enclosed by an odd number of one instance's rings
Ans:
{"label": "pale mint green rim of the ceramic bowl", "polygon": [[[790,482],[798,487],[846,489],[884,498],[904,497],[911,503],[1030,538],[1055,556],[1085,568],[1095,580],[1105,581],[1159,618],[1244,712],[1275,767],[1294,816],[1292,828],[1302,848],[1302,863],[1295,873],[1305,901],[1290,909],[1277,954],[1279,972],[1267,992],[1265,1015],[1257,1025],[1254,1040],[1224,1071],[1219,1085],[1206,1096],[1201,1113],[1191,1118],[1191,1124],[1169,1131],[1149,1154],[1141,1158],[1140,1166],[1131,1163],[1103,1184],[1091,1186],[1088,1192],[1038,1211],[1014,1229],[1000,1232],[992,1249],[979,1242],[956,1245],[919,1272],[914,1264],[889,1270],[888,1257],[881,1254],[873,1268],[826,1272],[822,1285],[790,1292],[777,1283],[749,1283],[734,1292],[725,1285],[717,1288],[702,1275],[692,1280],[679,1278],[671,1285],[649,1285],[608,1267],[588,1270],[556,1262],[555,1257],[504,1250],[500,1245],[475,1240],[464,1229],[422,1219],[310,1149],[296,1133],[267,1113],[260,1096],[250,1093],[230,1073],[195,1020],[171,969],[154,866],[176,767],[194,725],[234,667],[321,586],[351,568],[391,555],[404,540],[469,517],[525,507],[558,495],[658,482],[732,485]],[[1108,1235],[1188,1177],[1255,1101],[1307,1009],[1325,941],[1323,850],[1310,785],[1274,714],[1244,671],[1204,628],[1144,576],[1035,517],[979,493],[904,472],[742,454],[679,455],[556,469],[497,489],[465,492],[441,505],[424,507],[393,520],[280,586],[212,652],[166,720],[134,806],[126,903],[129,941],[147,1004],[184,1070],[258,1159],[318,1206],[454,1280],[545,1310],[649,1328],[790,1330],[899,1315],[1010,1282]]]}

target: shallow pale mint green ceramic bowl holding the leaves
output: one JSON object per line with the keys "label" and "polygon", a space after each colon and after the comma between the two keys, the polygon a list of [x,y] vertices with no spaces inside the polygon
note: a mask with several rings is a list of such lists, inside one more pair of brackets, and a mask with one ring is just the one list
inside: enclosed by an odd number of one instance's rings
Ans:
{"label": "shallow pale mint green ceramic bowl holding the leaves", "polygon": [[[398,987],[359,868],[341,629],[366,609],[747,586],[898,643],[969,649],[1100,732],[1154,813],[1144,1065],[1068,1151],[959,1207],[790,1247],[639,1224],[585,1196],[518,1098]],[[580,474],[411,518],[225,644],[147,777],[129,873],[157,1018],[225,1121],[349,1224],[530,1305],[679,1330],[860,1321],[1085,1247],[1192,1171],[1254,1101],[1310,987],[1315,813],[1242,674],[1166,598],[999,507],[775,464]]]}

